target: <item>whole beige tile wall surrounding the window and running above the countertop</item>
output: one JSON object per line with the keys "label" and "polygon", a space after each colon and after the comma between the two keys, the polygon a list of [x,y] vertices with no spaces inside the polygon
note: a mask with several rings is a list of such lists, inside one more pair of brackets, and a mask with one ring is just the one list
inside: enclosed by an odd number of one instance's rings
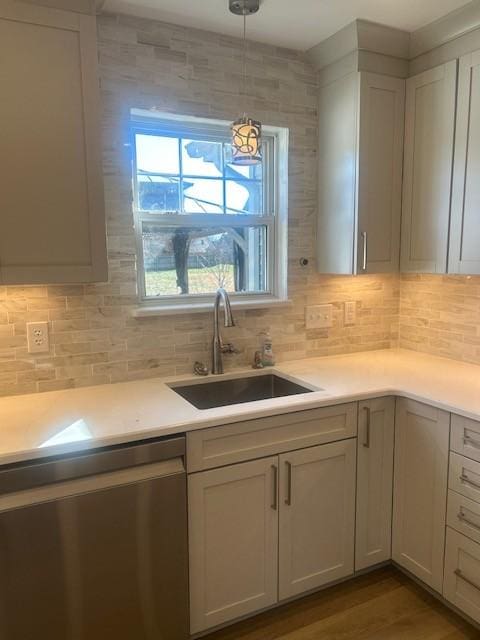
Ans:
{"label": "whole beige tile wall surrounding the window and running above the countertop", "polygon": [[[131,108],[236,117],[241,41],[103,15],[98,45],[110,281],[0,287],[0,395],[190,373],[196,359],[210,361],[212,314],[131,314],[137,296],[128,120]],[[250,364],[267,329],[279,361],[398,344],[480,361],[479,278],[316,274],[315,73],[301,53],[249,43],[248,75],[247,108],[290,129],[291,304],[237,312],[237,326],[225,330],[225,338],[241,353],[226,356],[226,367]],[[301,257],[309,258],[308,267]],[[353,326],[344,325],[346,301],[356,302]],[[305,306],[323,303],[334,306],[334,326],[307,330]],[[26,323],[43,320],[50,323],[50,352],[30,355]]]}

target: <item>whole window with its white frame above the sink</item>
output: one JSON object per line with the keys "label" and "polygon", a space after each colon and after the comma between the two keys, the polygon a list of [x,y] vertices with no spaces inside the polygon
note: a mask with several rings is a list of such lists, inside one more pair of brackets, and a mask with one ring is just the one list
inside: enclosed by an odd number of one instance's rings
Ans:
{"label": "whole window with its white frame above the sink", "polygon": [[288,132],[266,127],[262,163],[244,167],[229,123],[134,110],[131,129],[142,301],[284,299]]}

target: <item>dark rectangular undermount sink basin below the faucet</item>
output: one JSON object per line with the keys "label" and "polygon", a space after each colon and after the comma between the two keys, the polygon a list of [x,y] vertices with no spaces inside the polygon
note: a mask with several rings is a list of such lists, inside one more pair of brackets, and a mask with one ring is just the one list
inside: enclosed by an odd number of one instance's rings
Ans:
{"label": "dark rectangular undermount sink basin below the faucet", "polygon": [[275,373],[196,384],[175,384],[171,385],[171,389],[197,409],[213,409],[314,391]]}

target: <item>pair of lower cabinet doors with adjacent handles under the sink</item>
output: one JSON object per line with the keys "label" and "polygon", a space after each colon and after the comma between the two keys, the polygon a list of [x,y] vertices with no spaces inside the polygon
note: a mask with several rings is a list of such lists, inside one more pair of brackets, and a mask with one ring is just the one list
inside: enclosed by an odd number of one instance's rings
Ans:
{"label": "pair of lower cabinet doors with adjacent handles under the sink", "polygon": [[356,440],[189,476],[190,631],[353,574]]}

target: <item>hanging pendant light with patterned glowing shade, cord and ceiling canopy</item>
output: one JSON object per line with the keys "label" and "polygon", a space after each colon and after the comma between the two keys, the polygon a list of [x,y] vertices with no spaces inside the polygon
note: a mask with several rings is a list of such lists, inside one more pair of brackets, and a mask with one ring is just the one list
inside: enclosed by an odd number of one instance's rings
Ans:
{"label": "hanging pendant light with patterned glowing shade, cord and ceiling canopy", "polygon": [[[229,0],[230,11],[243,16],[243,94],[247,94],[247,15],[256,13],[260,8],[260,0]],[[257,120],[243,116],[231,126],[232,129],[232,164],[252,165],[262,161],[262,125]]]}

